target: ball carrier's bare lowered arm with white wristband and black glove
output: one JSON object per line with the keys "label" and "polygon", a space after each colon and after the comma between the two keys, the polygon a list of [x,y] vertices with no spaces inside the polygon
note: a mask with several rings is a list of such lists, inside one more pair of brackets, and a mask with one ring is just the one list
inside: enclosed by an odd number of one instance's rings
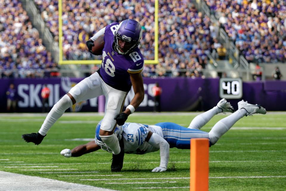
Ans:
{"label": "ball carrier's bare lowered arm with white wristband and black glove", "polygon": [[141,104],[144,99],[143,78],[141,72],[129,74],[135,95],[131,100],[130,105],[126,107],[126,110],[122,113],[117,114],[114,117],[118,125],[123,125],[127,120],[128,116],[136,110],[136,108]]}

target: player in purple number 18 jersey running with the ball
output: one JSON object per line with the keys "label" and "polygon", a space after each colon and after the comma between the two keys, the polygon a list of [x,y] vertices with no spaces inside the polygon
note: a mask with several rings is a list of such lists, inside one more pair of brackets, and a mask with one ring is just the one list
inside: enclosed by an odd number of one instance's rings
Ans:
{"label": "player in purple number 18 jersey running with the ball", "polygon": [[[104,36],[101,68],[88,78],[75,85],[69,93],[63,96],[47,115],[38,133],[24,134],[27,142],[40,144],[48,130],[63,113],[76,102],[105,96],[105,115],[100,127],[100,138],[112,150],[113,160],[111,171],[118,172],[122,168],[124,150],[113,131],[118,125],[123,125],[128,115],[133,113],[144,99],[144,87],[141,71],[144,58],[138,44],[142,38],[141,25],[126,19],[119,23],[111,23],[98,31],[86,44],[91,51],[93,42]],[[122,112],[125,98],[133,86],[134,97]]]}

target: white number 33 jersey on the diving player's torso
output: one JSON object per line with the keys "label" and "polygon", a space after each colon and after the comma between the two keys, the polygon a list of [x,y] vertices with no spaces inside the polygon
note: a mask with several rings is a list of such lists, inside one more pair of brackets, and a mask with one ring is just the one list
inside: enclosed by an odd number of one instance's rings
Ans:
{"label": "white number 33 jersey on the diving player's torso", "polygon": [[125,123],[122,125],[122,138],[124,151],[128,154],[145,154],[159,150],[145,141],[149,131],[163,137],[162,128],[155,125],[142,125],[139,123]]}

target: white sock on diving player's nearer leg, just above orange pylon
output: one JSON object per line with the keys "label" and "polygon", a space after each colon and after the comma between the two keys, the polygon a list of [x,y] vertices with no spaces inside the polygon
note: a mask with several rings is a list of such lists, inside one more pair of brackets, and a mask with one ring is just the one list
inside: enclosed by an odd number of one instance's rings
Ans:
{"label": "white sock on diving player's nearer leg, just above orange pylon", "polygon": [[209,138],[212,145],[214,145],[218,141],[218,139],[223,134],[225,134],[239,119],[243,118],[245,114],[246,110],[240,109],[233,114],[227,116],[226,118],[223,118],[218,121],[209,132]]}

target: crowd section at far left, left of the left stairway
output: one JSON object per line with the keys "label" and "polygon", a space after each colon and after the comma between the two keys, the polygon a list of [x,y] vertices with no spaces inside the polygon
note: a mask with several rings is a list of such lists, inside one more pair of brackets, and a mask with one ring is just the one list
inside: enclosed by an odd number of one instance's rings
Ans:
{"label": "crowd section at far left, left of the left stairway", "polygon": [[0,10],[1,77],[49,76],[49,70],[56,64],[22,4],[17,0],[0,0]]}

